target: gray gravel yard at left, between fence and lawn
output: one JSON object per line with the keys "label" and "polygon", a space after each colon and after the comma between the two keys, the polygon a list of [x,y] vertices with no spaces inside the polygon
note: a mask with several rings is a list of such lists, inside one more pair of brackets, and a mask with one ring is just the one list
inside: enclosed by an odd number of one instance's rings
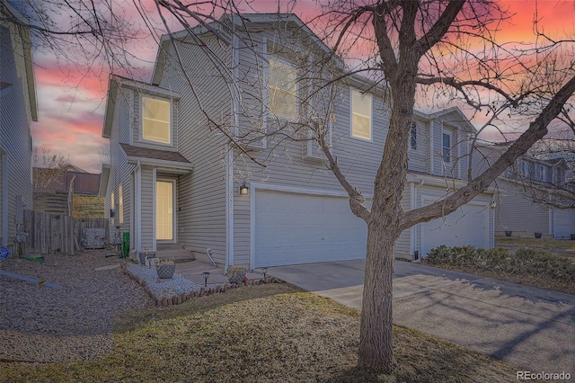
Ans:
{"label": "gray gravel yard at left, between fence and lawn", "polygon": [[[5,272],[60,286],[53,289],[0,275],[0,361],[80,361],[102,356],[113,345],[113,317],[154,307],[105,250],[75,256],[46,255],[44,263],[10,257]],[[105,268],[109,266],[110,268]],[[104,267],[104,270],[96,269]]]}

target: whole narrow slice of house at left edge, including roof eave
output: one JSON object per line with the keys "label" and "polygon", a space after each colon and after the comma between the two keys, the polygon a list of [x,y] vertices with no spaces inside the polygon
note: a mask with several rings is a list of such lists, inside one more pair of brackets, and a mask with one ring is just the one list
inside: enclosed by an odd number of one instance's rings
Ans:
{"label": "whole narrow slice of house at left edge, including roof eave", "polygon": [[[0,1],[0,17],[27,21]],[[32,206],[31,121],[38,120],[30,31],[0,21],[0,245],[22,231],[22,208]]]}

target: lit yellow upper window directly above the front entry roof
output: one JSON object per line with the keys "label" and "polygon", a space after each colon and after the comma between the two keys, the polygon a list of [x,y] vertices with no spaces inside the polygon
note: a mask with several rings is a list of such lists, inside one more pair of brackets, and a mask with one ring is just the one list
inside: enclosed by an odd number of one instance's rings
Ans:
{"label": "lit yellow upper window directly above the front entry roof", "polygon": [[152,97],[142,97],[142,138],[172,144],[172,104]]}

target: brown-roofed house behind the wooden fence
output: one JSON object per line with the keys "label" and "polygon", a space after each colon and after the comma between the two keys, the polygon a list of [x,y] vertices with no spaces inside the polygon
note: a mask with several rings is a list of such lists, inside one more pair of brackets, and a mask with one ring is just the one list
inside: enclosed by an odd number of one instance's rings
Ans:
{"label": "brown-roofed house behind the wooden fence", "polygon": [[74,165],[33,168],[34,210],[103,218],[104,201],[98,195],[101,174],[87,173]]}

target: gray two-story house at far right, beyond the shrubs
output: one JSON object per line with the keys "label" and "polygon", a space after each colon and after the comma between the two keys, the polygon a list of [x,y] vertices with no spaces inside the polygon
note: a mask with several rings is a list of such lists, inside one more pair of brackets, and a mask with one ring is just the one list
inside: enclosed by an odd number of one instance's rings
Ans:
{"label": "gray two-story house at far right, beyond the shrubs", "polygon": [[[473,156],[473,172],[479,174],[507,150],[510,142],[477,147]],[[521,156],[496,182],[497,208],[495,229],[497,236],[505,231],[512,236],[542,233],[554,238],[570,238],[575,233],[573,191],[566,179],[570,167],[563,158],[540,159]]]}

